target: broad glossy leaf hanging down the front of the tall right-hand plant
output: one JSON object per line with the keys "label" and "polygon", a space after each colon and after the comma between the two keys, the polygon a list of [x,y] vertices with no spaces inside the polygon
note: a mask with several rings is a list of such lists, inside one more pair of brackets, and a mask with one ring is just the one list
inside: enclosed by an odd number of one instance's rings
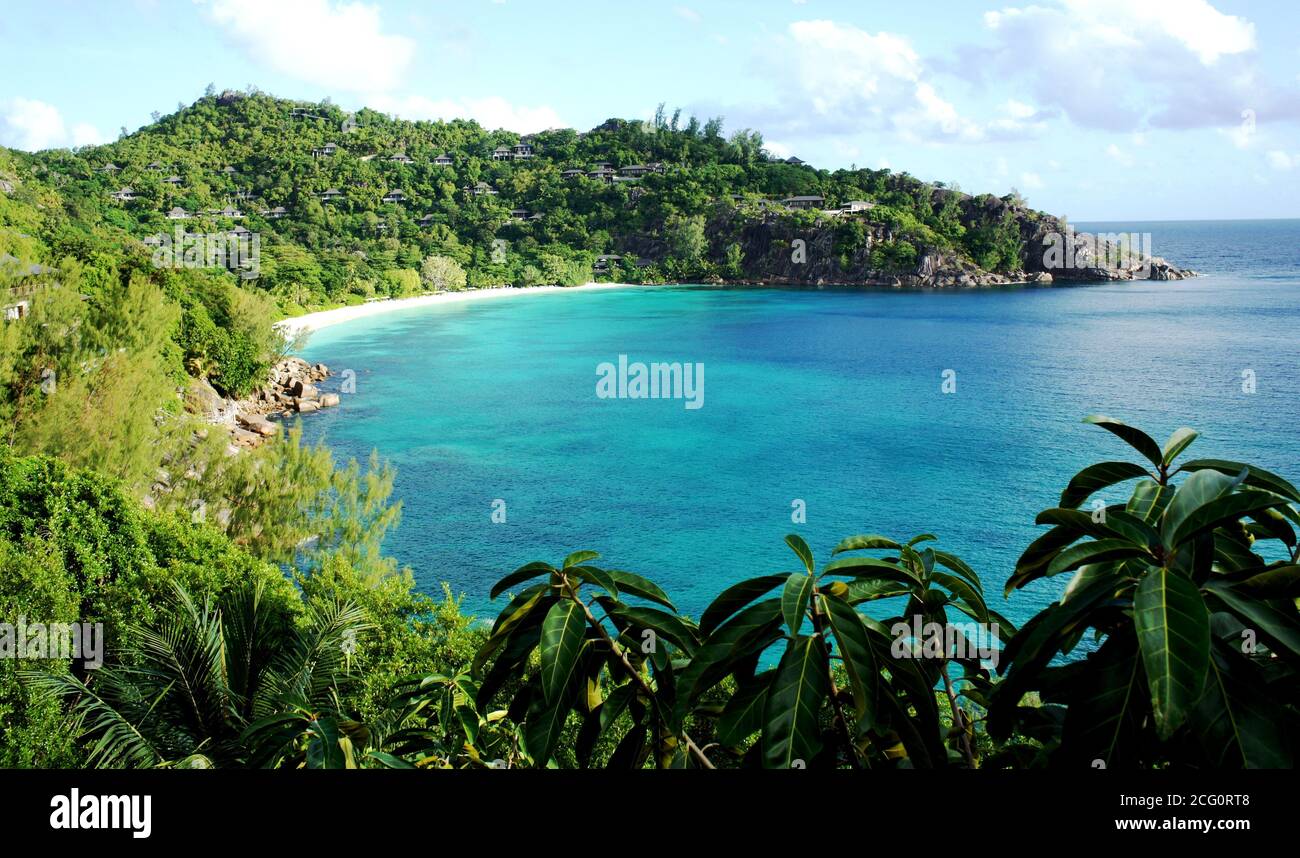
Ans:
{"label": "broad glossy leaf hanging down the front of the tall right-hand plant", "polygon": [[1210,615],[1192,581],[1153,567],[1134,594],[1134,627],[1150,688],[1156,732],[1173,736],[1205,689]]}

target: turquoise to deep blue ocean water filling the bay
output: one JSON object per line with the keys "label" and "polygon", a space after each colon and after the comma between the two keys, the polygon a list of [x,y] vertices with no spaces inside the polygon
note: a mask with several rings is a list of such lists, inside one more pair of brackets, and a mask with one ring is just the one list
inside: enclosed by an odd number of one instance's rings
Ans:
{"label": "turquoise to deep blue ocean water filling the bay", "polygon": [[[1086,415],[1158,442],[1188,425],[1201,432],[1193,456],[1300,478],[1300,221],[1083,226],[1149,231],[1157,255],[1205,277],[680,286],[402,311],[312,337],[304,356],[355,372],[356,393],[304,433],[396,467],[404,511],[389,551],[480,615],[499,610],[499,576],[577,549],[655,578],[698,616],[731,582],[793,571],[786,533],[824,562],[850,534],[930,532],[975,567],[991,607],[1023,621],[1066,584],[1002,598],[1043,532],[1035,515],[1082,467],[1132,458]],[[619,355],[703,364],[703,406],[598,398],[597,367]],[[946,370],[956,393],[942,393]],[[806,524],[792,523],[796,500]]]}

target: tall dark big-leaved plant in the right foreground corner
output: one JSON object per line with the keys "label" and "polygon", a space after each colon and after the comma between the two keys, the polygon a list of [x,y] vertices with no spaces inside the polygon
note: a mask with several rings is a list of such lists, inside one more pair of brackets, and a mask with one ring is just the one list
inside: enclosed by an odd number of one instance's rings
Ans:
{"label": "tall dark big-leaved plant in the right foreground corner", "polygon": [[[1179,456],[1112,420],[1092,422],[1140,454],[1080,471],[1052,529],[1008,589],[1072,572],[1061,601],[1008,646],[993,694],[994,736],[1019,728],[1050,762],[1096,766],[1291,767],[1300,703],[1300,493],[1239,462]],[[1175,477],[1180,481],[1175,482]],[[1124,503],[1078,507],[1136,480]],[[1089,630],[1100,646],[1058,663]],[[1035,690],[1041,707],[1017,707]]]}

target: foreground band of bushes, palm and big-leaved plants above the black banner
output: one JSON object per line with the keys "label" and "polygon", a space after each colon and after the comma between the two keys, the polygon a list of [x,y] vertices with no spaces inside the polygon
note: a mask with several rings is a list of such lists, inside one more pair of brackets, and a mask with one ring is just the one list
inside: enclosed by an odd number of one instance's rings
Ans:
{"label": "foreground band of bushes, palm and big-leaved plants above the black banner", "polygon": [[[1084,468],[1037,516],[1050,529],[1006,593],[1070,581],[1020,629],[932,534],[853,536],[823,563],[790,534],[793,572],[757,571],[699,618],[651,580],[576,551],[499,580],[491,595],[506,604],[488,627],[450,594],[415,594],[351,541],[322,542],[285,575],[207,525],[139,508],[114,481],[6,456],[0,556],[21,560],[8,563],[0,607],[110,618],[112,630],[98,671],[0,664],[0,759],[1292,766],[1300,493],[1248,464],[1183,458],[1190,429],[1158,445],[1089,421],[1138,460]],[[1119,484],[1132,484],[1126,503],[1084,508]],[[369,503],[343,504],[342,529],[385,507],[385,486],[370,488]],[[913,630],[923,628],[941,633]],[[998,649],[972,629],[992,629]]]}

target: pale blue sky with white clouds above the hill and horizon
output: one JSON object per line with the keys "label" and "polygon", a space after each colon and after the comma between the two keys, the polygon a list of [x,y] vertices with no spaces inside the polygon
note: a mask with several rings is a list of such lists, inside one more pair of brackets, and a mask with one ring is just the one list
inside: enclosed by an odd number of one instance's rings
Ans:
{"label": "pale blue sky with white clouds above the hill and horizon", "polygon": [[757,129],[1075,221],[1300,217],[1295,0],[3,0],[0,144],[255,84],[520,133]]}

